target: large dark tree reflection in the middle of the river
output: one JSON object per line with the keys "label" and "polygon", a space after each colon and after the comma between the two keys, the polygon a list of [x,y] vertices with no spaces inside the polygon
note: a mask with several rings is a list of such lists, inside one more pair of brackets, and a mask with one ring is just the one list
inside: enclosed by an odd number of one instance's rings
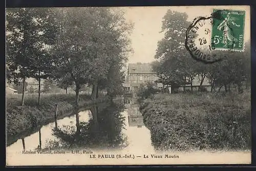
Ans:
{"label": "large dark tree reflection in the middle of the river", "polygon": [[124,127],[123,104],[110,103],[109,106],[92,106],[92,118],[89,122],[80,122],[79,127],[62,125],[54,130],[58,140],[49,141],[46,148],[123,148],[125,136],[121,133]]}

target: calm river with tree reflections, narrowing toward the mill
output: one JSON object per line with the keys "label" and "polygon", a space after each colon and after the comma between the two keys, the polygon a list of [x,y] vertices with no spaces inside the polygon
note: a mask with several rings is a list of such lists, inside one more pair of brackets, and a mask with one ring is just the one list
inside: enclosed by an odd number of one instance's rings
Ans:
{"label": "calm river with tree reflections, narrowing toward the mill", "polygon": [[68,116],[57,120],[57,129],[55,122],[43,125],[38,132],[9,145],[7,152],[78,148],[153,152],[151,133],[143,123],[138,104],[131,99],[124,102],[92,105],[89,110],[79,112],[80,133],[76,116]]}

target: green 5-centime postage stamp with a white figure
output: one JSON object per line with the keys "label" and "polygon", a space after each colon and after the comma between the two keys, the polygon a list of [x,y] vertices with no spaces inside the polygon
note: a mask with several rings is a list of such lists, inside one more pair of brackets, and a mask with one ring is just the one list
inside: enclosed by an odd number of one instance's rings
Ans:
{"label": "green 5-centime postage stamp with a white figure", "polygon": [[211,47],[214,49],[244,49],[245,11],[219,10],[212,18]]}

